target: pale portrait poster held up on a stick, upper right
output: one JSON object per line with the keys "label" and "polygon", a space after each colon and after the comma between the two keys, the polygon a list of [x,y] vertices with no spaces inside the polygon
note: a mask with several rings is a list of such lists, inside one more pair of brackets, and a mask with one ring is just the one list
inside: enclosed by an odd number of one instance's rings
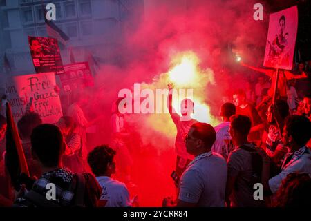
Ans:
{"label": "pale portrait poster held up on a stick, upper right", "polygon": [[270,15],[263,66],[292,70],[297,28],[297,6]]}

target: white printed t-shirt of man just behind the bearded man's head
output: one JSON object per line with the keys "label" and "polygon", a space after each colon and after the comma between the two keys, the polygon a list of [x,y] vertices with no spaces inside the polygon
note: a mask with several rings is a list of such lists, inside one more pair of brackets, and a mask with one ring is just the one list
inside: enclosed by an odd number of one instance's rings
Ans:
{"label": "white printed t-shirt of man just behind the bearded man's head", "polygon": [[229,133],[230,122],[223,122],[215,126],[216,141],[211,147],[211,151],[219,153],[227,160],[229,153],[234,150],[232,138]]}

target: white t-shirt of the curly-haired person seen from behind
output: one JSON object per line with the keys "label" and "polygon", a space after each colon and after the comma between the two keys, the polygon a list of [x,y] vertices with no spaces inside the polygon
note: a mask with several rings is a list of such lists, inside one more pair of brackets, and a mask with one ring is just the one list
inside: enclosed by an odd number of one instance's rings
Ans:
{"label": "white t-shirt of the curly-haired person seen from behind", "polygon": [[129,191],[124,183],[111,179],[111,177],[96,177],[97,182],[102,187],[100,196],[100,207],[129,207],[131,200]]}

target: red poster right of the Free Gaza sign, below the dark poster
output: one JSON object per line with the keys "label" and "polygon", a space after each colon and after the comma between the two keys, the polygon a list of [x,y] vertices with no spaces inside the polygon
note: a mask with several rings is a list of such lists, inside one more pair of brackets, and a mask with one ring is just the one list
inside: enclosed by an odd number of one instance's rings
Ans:
{"label": "red poster right of the Free Gaza sign, below the dark poster", "polygon": [[65,92],[94,86],[94,79],[88,62],[65,65],[64,74],[59,75],[59,79]]}

